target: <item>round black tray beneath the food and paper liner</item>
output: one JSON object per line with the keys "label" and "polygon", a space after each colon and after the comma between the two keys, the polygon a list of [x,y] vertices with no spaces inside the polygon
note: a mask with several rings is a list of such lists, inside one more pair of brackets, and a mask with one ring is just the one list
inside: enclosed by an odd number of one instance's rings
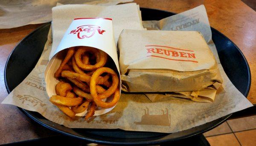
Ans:
{"label": "round black tray beneath the food and paper liner", "polygon": [[[174,13],[155,9],[141,8],[143,20],[160,20],[172,16]],[[31,34],[26,36],[9,55],[5,68],[5,83],[8,92],[11,92],[35,67],[44,44],[47,40],[50,23],[39,27]],[[212,40],[218,51],[221,64],[236,88],[247,96],[250,89],[250,69],[248,63],[240,49],[227,37],[216,29],[212,30]],[[18,73],[17,73],[18,72]],[[20,108],[21,109],[21,108]],[[171,134],[157,132],[133,132],[120,129],[70,129],[65,126],[53,123],[45,119],[37,112],[21,109],[28,117],[35,120],[48,129],[64,135],[76,137],[87,142],[103,144],[158,144],[170,142],[186,137],[191,137],[223,123],[230,115],[221,117],[204,125],[187,129]]]}

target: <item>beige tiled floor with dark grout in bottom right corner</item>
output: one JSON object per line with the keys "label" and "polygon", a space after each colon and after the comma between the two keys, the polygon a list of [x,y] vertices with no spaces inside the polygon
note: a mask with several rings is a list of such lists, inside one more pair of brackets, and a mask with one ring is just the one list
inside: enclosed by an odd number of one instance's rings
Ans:
{"label": "beige tiled floor with dark grout in bottom right corner", "polygon": [[256,146],[256,115],[227,120],[204,136],[211,146]]}

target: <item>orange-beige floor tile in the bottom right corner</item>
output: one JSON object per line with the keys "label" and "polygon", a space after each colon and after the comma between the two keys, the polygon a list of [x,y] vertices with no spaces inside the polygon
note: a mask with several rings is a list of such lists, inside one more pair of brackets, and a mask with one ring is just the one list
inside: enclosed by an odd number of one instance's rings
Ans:
{"label": "orange-beige floor tile in the bottom right corner", "polygon": [[256,146],[256,129],[235,133],[242,146]]}

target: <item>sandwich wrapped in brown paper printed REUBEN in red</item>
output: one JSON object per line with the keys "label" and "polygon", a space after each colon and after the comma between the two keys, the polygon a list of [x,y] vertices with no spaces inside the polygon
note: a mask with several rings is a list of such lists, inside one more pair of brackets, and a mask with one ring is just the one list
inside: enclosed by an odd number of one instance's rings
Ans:
{"label": "sandwich wrapped in brown paper printed REUBEN in red", "polygon": [[123,30],[118,48],[126,92],[198,91],[222,83],[216,60],[198,31]]}

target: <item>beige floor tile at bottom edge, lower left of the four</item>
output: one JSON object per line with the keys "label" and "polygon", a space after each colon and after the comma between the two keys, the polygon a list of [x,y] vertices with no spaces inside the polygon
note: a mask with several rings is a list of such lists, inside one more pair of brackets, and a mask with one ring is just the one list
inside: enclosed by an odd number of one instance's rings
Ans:
{"label": "beige floor tile at bottom edge, lower left of the four", "polygon": [[206,137],[211,146],[240,146],[233,133]]}

